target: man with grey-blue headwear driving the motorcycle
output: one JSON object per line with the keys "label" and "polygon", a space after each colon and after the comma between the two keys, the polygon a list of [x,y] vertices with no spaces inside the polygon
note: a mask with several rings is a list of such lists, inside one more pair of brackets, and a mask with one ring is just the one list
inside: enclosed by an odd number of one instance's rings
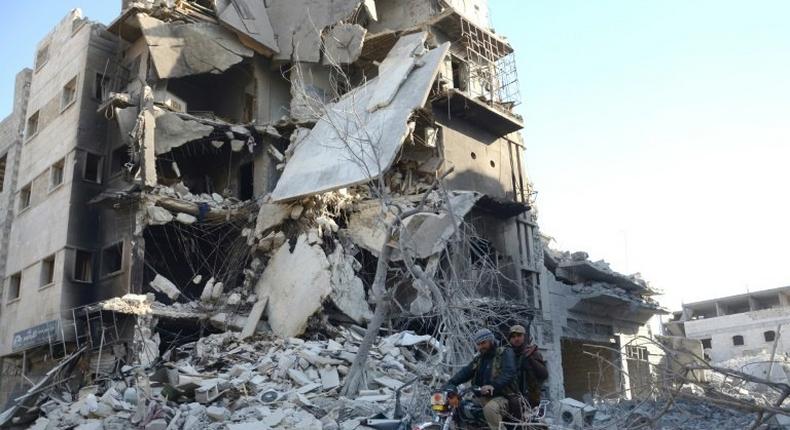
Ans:
{"label": "man with grey-blue headwear driving the motorcycle", "polygon": [[518,394],[515,355],[511,348],[498,347],[489,329],[478,330],[473,339],[477,354],[448,383],[457,386],[471,380],[480,387],[482,397],[478,401],[486,423],[491,430],[497,430],[502,417],[508,415],[507,397]]}

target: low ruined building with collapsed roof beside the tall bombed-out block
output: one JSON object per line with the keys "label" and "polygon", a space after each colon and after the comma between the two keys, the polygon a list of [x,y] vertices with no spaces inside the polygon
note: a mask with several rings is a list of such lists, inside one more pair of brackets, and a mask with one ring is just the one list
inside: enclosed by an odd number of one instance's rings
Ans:
{"label": "low ruined building with collapsed roof beside the tall bombed-out block", "polygon": [[638,274],[615,272],[585,252],[547,246],[543,255],[537,326],[551,397],[644,397],[664,356],[644,341],[654,338],[648,321],[667,313],[653,298],[657,292]]}

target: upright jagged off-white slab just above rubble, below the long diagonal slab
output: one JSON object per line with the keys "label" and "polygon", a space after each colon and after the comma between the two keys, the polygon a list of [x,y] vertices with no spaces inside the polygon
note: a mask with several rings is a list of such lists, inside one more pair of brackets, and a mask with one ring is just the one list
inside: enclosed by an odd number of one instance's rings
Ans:
{"label": "upright jagged off-white slab just above rubble, below the long diagonal slab", "polygon": [[306,234],[296,240],[293,252],[290,248],[286,242],[274,253],[255,286],[258,298],[269,300],[267,315],[272,331],[284,338],[304,333],[308,319],[332,292],[324,251],[311,246]]}

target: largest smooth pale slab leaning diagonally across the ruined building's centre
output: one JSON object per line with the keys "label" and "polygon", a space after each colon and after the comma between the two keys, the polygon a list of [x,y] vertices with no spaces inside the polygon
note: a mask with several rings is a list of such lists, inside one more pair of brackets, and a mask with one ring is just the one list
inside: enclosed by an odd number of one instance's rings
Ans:
{"label": "largest smooth pale slab leaning diagonally across the ruined building's centre", "polygon": [[[381,75],[327,107],[310,134],[294,150],[272,192],[275,202],[365,183],[386,171],[409,133],[408,120],[425,105],[439,64],[450,44],[428,51],[392,102],[367,110]],[[403,59],[408,61],[408,59]]]}

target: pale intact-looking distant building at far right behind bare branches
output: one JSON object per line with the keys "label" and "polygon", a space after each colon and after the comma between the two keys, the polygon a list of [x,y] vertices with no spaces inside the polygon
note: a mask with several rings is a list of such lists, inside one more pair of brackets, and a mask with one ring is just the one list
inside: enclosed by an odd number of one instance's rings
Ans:
{"label": "pale intact-looking distant building at far right behind bare branches", "polygon": [[702,342],[713,362],[770,353],[790,352],[781,326],[790,323],[790,286],[683,305],[665,325],[674,336]]}

